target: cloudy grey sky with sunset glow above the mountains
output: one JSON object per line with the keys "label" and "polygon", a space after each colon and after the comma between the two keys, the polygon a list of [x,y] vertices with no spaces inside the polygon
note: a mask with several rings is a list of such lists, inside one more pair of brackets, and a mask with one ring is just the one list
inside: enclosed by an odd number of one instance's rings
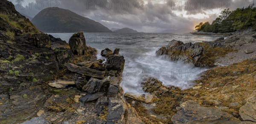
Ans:
{"label": "cloudy grey sky with sunset glow above the mountains", "polygon": [[224,8],[235,10],[253,0],[9,0],[21,14],[34,17],[48,7],[69,9],[109,29],[143,32],[190,28],[212,23]]}

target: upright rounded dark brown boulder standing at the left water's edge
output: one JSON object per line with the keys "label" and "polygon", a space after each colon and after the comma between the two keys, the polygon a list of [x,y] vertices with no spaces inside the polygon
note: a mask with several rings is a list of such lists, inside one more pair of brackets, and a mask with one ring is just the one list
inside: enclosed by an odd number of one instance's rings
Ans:
{"label": "upright rounded dark brown boulder standing at the left water's edge", "polygon": [[73,34],[72,37],[69,39],[69,45],[73,54],[75,55],[84,55],[85,51],[87,50],[86,41],[84,38],[84,33],[79,32]]}

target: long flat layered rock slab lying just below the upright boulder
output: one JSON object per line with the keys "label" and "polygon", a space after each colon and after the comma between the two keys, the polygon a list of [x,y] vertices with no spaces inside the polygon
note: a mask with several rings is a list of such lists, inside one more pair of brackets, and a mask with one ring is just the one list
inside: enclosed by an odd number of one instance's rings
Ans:
{"label": "long flat layered rock slab lying just below the upright boulder", "polygon": [[86,75],[94,78],[103,78],[105,74],[104,71],[80,67],[71,63],[65,63],[64,66],[67,67],[67,69],[70,70],[71,72],[79,73],[81,75]]}

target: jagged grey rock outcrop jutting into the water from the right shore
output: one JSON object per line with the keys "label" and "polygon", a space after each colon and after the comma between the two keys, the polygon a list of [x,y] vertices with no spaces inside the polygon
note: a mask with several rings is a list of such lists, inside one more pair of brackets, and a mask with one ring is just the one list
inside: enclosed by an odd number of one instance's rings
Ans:
{"label": "jagged grey rock outcrop jutting into the water from the right shore", "polygon": [[158,56],[166,55],[171,61],[183,61],[195,66],[205,66],[202,62],[204,48],[199,44],[183,43],[172,40],[166,47],[160,48],[156,53]]}

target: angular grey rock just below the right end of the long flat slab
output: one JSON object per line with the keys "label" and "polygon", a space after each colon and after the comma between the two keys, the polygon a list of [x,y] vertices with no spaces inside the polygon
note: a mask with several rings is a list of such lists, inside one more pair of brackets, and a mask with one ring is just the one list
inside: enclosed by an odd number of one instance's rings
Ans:
{"label": "angular grey rock just below the right end of the long flat slab", "polygon": [[110,81],[109,77],[106,77],[103,80],[91,78],[86,85],[84,85],[83,90],[87,91],[87,93],[96,93],[99,92],[102,85],[108,84]]}

